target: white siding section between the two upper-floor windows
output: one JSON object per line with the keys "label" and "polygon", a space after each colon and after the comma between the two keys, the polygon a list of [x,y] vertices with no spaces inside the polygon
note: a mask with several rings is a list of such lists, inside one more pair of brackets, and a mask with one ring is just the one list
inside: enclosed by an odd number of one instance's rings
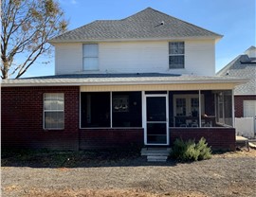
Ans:
{"label": "white siding section between the two upper-floor windows", "polygon": [[102,43],[100,70],[108,73],[166,72],[166,42]]}

